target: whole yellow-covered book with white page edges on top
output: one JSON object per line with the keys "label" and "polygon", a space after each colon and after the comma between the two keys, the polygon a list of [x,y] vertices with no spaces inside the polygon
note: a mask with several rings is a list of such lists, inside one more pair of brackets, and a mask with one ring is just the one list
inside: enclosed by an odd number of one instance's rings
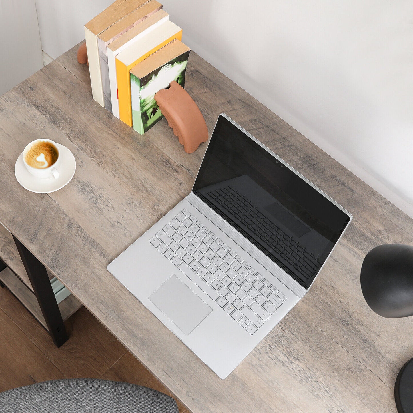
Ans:
{"label": "whole yellow-covered book with white page edges on top", "polygon": [[182,40],[182,29],[167,20],[116,56],[119,115],[127,125],[132,126],[131,69],[174,39]]}

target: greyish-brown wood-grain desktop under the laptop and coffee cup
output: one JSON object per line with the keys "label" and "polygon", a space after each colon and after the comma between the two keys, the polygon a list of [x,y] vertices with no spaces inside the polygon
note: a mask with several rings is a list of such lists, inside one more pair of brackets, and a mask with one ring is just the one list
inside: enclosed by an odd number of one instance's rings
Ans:
{"label": "greyish-brown wood-grain desktop under the laptop and coffee cup", "polygon": [[[76,50],[0,97],[7,228],[194,412],[395,412],[412,320],[373,313],[359,274],[377,244],[413,242],[412,219],[192,52],[186,88],[209,132],[225,112],[354,216],[308,294],[220,380],[106,269],[190,192],[206,145],[189,155],[164,120],[141,136],[116,119],[92,100]],[[77,162],[71,183],[50,195],[14,177],[26,143],[42,137]]]}

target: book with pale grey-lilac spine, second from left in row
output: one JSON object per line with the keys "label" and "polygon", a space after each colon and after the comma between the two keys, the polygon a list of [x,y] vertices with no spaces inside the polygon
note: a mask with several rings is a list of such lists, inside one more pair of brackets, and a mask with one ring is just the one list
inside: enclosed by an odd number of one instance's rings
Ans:
{"label": "book with pale grey-lilac spine, second from left in row", "polygon": [[142,20],[149,17],[151,14],[157,12],[162,8],[161,3],[156,0],[150,0],[137,9],[133,10],[112,26],[108,27],[105,31],[102,31],[97,36],[97,46],[99,48],[99,63],[100,63],[100,75],[102,77],[103,87],[103,100],[105,109],[112,112],[112,100],[110,98],[110,83],[109,83],[109,67],[107,63],[107,45],[112,43],[123,33],[126,33],[133,26],[139,24]]}

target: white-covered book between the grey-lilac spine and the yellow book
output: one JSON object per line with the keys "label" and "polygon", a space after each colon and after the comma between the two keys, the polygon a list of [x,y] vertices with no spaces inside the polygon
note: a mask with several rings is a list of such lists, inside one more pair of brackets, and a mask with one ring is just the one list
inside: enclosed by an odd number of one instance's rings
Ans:
{"label": "white-covered book between the grey-lilac spine and the yellow book", "polygon": [[137,42],[140,38],[169,20],[169,14],[159,10],[141,21],[139,24],[123,33],[119,38],[107,45],[107,64],[109,68],[110,96],[112,100],[112,114],[119,119],[118,81],[116,78],[116,56],[126,47]]}

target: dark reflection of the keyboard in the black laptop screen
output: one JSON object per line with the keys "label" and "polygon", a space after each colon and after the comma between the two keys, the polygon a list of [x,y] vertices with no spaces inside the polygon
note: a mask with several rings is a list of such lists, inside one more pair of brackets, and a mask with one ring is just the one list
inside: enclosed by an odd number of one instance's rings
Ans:
{"label": "dark reflection of the keyboard in the black laptop screen", "polygon": [[321,268],[314,255],[301,247],[297,241],[261,214],[249,199],[230,186],[208,192],[208,195],[218,207],[228,211],[235,221],[263,241],[268,249],[275,249],[276,258],[290,271],[298,272],[309,279]]}

